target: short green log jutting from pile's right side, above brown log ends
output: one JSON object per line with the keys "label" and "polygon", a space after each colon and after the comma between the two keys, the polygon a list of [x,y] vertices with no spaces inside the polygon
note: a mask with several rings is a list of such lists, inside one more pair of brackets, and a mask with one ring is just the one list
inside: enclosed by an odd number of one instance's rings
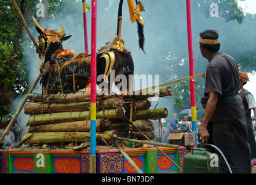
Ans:
{"label": "short green log jutting from pile's right side, above brown log ends", "polygon": [[151,109],[151,110],[139,110],[134,112],[134,120],[156,120],[159,118],[165,118],[168,116],[168,110],[166,108],[162,109]]}

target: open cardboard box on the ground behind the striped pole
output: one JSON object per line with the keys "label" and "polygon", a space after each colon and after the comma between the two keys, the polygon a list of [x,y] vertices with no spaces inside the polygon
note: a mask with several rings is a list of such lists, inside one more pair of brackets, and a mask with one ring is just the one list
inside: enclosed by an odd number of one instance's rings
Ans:
{"label": "open cardboard box on the ground behind the striped pole", "polygon": [[193,132],[183,132],[182,129],[176,129],[171,131],[168,138],[170,143],[173,145],[186,146],[190,144],[191,146],[196,145],[196,131]]}

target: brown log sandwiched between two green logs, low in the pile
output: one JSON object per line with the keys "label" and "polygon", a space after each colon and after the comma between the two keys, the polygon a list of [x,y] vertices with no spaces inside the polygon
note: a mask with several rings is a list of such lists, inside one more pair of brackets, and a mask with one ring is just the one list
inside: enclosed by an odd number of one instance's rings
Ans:
{"label": "brown log sandwiched between two green logs, low in the pile", "polygon": [[[96,120],[97,132],[108,131],[110,129],[110,121],[105,119]],[[90,120],[31,126],[28,132],[90,132]]]}

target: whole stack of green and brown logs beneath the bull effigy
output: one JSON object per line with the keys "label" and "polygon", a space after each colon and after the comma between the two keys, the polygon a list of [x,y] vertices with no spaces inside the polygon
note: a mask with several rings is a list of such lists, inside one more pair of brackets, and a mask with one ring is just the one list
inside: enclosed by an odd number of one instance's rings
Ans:
{"label": "whole stack of green and brown logs beneath the bull effigy", "polygon": [[[159,97],[171,96],[170,87],[161,88]],[[104,95],[97,91],[96,139],[105,143],[114,142],[124,136],[126,129],[125,107],[133,101],[132,123],[153,140],[152,121],[167,117],[166,108],[150,109],[148,100],[152,93],[127,95]],[[28,133],[21,142],[25,144],[87,142],[90,140],[90,91],[72,94],[32,94],[24,106],[24,113],[30,115],[27,123]],[[125,106],[125,105],[128,106]],[[138,139],[145,139],[134,128]]]}

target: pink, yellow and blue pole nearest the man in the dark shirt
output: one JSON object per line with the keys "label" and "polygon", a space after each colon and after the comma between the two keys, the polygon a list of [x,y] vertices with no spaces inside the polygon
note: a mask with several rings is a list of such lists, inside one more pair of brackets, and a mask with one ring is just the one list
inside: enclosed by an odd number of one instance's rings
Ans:
{"label": "pink, yellow and blue pole nearest the man in the dark shirt", "polygon": [[[186,19],[188,28],[188,54],[189,54],[189,75],[194,76],[194,57],[193,57],[193,41],[192,41],[192,21],[191,21],[191,1],[186,0]],[[191,113],[192,113],[192,131],[196,129],[196,96],[195,96],[195,79],[190,80],[191,92]],[[197,139],[196,139],[197,140]]]}

